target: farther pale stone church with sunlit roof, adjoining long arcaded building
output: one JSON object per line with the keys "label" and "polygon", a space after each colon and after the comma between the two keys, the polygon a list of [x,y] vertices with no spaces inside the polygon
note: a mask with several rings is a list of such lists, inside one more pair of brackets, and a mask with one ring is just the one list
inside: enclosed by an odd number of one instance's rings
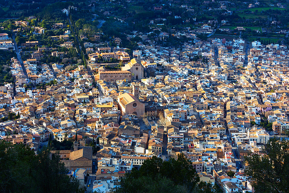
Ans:
{"label": "farther pale stone church with sunlit roof, adjoining long arcaded building", "polygon": [[131,80],[141,80],[144,78],[144,67],[140,63],[140,60],[135,58],[131,59],[129,63],[125,64],[121,70],[131,71]]}

